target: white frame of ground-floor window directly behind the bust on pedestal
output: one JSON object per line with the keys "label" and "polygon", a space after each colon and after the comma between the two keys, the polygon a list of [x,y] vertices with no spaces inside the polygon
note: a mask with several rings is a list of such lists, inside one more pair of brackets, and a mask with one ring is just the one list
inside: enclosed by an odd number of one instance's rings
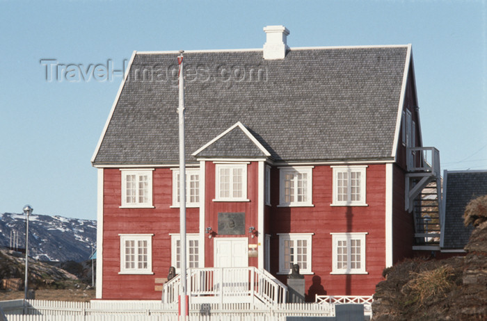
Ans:
{"label": "white frame of ground-floor window directly behind the bust on pedestal", "polygon": [[[292,269],[290,266],[285,266],[285,241],[292,240],[294,241],[294,247],[297,247],[296,242],[298,240],[305,240],[306,241],[306,268],[303,268],[301,265],[299,267],[300,274],[314,274],[312,272],[312,265],[311,265],[311,258],[312,258],[312,236],[314,233],[278,233],[279,236],[279,272],[278,274],[291,274]],[[299,254],[294,254],[294,262],[296,263],[296,256]]]}

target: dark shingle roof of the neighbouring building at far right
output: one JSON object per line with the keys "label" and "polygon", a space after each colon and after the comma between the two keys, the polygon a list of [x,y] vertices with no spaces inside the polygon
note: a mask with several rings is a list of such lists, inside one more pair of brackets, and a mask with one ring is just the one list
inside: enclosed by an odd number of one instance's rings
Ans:
{"label": "dark shingle roof of the neighbouring building at far right", "polygon": [[465,206],[472,199],[487,195],[487,171],[446,172],[445,233],[443,247],[463,249],[472,233],[472,226],[463,225]]}

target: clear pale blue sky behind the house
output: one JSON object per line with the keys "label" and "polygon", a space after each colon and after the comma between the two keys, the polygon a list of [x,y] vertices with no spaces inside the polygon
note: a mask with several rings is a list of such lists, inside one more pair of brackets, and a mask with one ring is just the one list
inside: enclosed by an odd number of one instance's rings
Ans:
{"label": "clear pale blue sky behind the house", "polygon": [[0,213],[96,218],[90,158],[122,76],[47,81],[40,60],[260,48],[274,24],[290,47],[413,44],[424,146],[442,169],[487,169],[487,1],[0,0]]}

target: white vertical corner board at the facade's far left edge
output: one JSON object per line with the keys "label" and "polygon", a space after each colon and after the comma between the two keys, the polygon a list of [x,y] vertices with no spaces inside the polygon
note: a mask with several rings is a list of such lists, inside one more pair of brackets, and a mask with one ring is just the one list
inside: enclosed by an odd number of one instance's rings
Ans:
{"label": "white vertical corner board at the facade's far left edge", "polygon": [[97,169],[97,286],[96,298],[103,295],[103,168]]}

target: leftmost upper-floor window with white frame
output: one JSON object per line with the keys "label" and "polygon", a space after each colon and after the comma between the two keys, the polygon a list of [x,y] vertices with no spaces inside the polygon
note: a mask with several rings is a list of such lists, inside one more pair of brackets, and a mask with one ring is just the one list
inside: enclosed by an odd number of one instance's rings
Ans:
{"label": "leftmost upper-floor window with white frame", "polygon": [[152,207],[152,170],[121,171],[121,207]]}

